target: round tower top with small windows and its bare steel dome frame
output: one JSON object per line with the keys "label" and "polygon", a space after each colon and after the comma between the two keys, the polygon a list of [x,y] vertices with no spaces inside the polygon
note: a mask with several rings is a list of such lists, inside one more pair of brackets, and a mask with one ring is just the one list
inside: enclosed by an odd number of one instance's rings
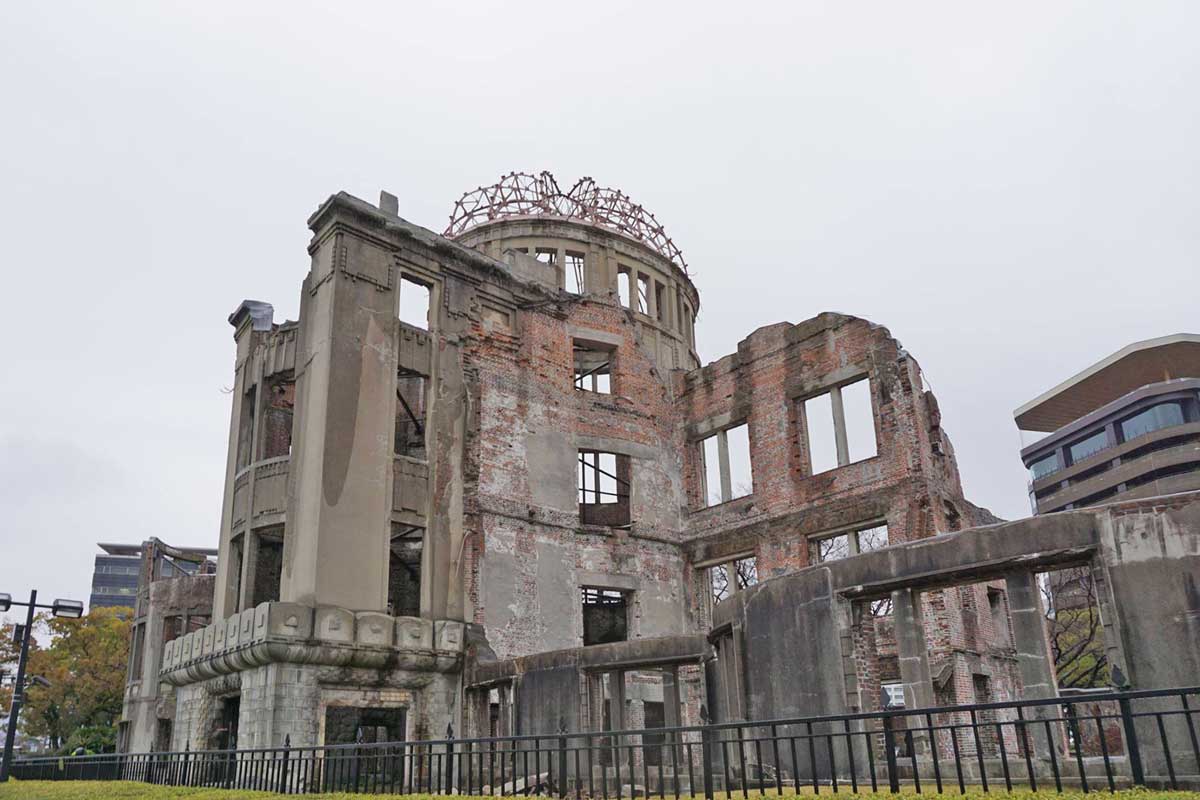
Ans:
{"label": "round tower top with small windows and its bare steel dome frame", "polygon": [[540,282],[611,297],[634,312],[660,368],[700,366],[700,294],[683,253],[619,190],[582,178],[564,192],[548,172],[509,173],[463,194],[443,235],[497,259],[528,255],[541,265],[528,265]]}

